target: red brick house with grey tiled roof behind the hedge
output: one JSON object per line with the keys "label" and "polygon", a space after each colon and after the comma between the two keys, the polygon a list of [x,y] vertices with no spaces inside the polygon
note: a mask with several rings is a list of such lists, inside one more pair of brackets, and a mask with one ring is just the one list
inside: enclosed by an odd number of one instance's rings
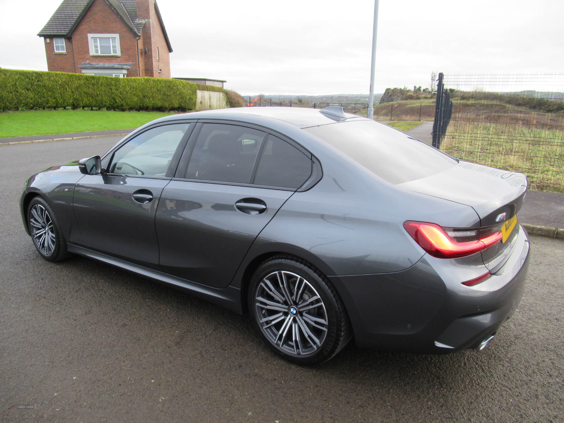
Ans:
{"label": "red brick house with grey tiled roof behind the hedge", "polygon": [[155,0],[63,0],[37,35],[53,72],[170,78],[173,49]]}

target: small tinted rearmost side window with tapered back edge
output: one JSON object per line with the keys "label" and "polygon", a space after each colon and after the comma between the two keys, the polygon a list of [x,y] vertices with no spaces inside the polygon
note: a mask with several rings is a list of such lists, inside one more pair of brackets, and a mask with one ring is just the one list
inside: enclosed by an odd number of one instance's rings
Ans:
{"label": "small tinted rearmost side window with tapered back edge", "polygon": [[311,160],[296,147],[269,135],[254,183],[272,187],[299,188],[311,175]]}

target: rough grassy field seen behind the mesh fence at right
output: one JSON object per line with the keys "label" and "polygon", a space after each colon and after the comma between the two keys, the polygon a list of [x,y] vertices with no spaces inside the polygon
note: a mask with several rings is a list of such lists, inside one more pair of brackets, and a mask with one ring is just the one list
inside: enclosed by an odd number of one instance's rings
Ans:
{"label": "rough grassy field seen behind the mesh fence at right", "polygon": [[454,110],[440,146],[444,152],[525,173],[534,190],[564,192],[562,112],[523,112],[502,103],[463,101]]}

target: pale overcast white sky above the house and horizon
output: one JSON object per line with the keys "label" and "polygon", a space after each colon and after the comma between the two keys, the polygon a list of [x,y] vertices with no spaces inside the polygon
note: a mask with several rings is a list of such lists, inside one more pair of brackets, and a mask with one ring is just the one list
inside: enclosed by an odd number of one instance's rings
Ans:
{"label": "pale overcast white sky above the house and horizon", "polygon": [[[61,0],[0,0],[0,67],[47,70],[37,33]],[[369,91],[374,2],[157,0],[173,77],[241,94]],[[563,72],[564,1],[381,0],[376,92],[430,73]]]}

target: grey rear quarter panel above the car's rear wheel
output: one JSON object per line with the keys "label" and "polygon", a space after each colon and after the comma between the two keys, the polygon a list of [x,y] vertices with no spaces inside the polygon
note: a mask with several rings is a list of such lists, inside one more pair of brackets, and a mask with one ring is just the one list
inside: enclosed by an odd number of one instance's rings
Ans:
{"label": "grey rear quarter panel above the car's rear wheel", "polygon": [[314,153],[323,178],[285,202],[253,243],[243,268],[258,255],[284,252],[310,261],[327,276],[398,272],[424,254],[403,222],[454,227],[479,222],[469,206],[391,185],[332,151]]}

